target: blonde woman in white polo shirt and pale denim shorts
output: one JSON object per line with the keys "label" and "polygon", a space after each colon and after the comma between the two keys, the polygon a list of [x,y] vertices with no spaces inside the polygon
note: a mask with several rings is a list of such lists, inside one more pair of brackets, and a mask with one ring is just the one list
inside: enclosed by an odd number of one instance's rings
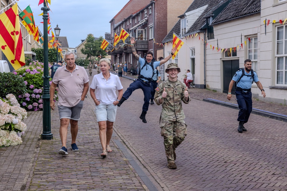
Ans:
{"label": "blonde woman in white polo shirt and pale denim shorts", "polygon": [[[112,152],[110,139],[113,134],[113,123],[116,120],[117,104],[123,96],[123,86],[119,77],[111,74],[110,60],[103,58],[100,60],[100,74],[94,75],[90,86],[90,94],[96,104],[96,117],[100,130],[100,141],[103,148],[102,157],[107,156],[107,152]],[[95,90],[96,94],[95,94]],[[116,90],[119,95],[117,96]]]}

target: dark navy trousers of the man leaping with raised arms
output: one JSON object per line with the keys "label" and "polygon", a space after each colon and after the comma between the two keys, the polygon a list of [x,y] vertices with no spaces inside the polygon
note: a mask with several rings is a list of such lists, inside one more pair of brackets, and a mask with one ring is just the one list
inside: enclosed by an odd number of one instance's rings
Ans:
{"label": "dark navy trousers of the man leaping with raised arms", "polygon": [[129,88],[123,94],[123,98],[126,100],[131,96],[134,90],[141,89],[144,92],[144,105],[143,111],[148,111],[148,106],[150,104],[150,98],[152,95],[150,94],[150,82],[143,82],[140,79],[137,79],[133,83],[129,85]]}

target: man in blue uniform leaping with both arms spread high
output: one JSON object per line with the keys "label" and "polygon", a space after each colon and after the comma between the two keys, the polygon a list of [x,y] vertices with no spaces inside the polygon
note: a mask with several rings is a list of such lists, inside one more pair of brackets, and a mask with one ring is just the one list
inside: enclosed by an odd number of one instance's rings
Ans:
{"label": "man in blue uniform leaping with both arms spread high", "polygon": [[127,88],[127,90],[123,94],[122,99],[119,101],[118,106],[120,107],[121,104],[131,96],[134,90],[139,89],[139,88],[142,89],[144,92],[144,105],[142,107],[141,116],[139,118],[142,120],[142,122],[146,123],[147,122],[146,112],[148,111],[148,106],[150,104],[150,99],[152,97],[150,93],[150,82],[153,77],[154,68],[166,63],[172,57],[172,55],[176,51],[176,48],[175,47],[172,48],[171,54],[168,55],[163,60],[155,61],[155,59],[153,58],[152,52],[148,52],[144,58],[140,58],[139,55],[137,54],[137,51],[135,50],[135,47],[133,45],[134,43],[135,43],[135,38],[132,37],[131,38],[131,50],[133,52],[133,55],[137,59],[137,61],[139,61],[140,63],[139,76],[136,81],[132,82],[129,85],[129,88]]}

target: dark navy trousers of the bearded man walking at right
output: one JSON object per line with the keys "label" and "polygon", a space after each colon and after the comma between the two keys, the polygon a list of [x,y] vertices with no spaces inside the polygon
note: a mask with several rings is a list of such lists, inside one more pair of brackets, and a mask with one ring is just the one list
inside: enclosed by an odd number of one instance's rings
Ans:
{"label": "dark navy trousers of the bearded man walking at right", "polygon": [[252,93],[251,92],[243,92],[243,91],[235,91],[236,100],[238,103],[238,107],[240,109],[238,113],[237,121],[247,123],[250,113],[252,111]]}

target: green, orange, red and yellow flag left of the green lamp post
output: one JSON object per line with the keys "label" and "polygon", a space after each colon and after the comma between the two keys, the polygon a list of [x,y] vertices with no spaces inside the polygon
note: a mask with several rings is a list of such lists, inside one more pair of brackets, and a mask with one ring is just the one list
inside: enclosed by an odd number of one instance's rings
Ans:
{"label": "green, orange, red and yellow flag left of the green lamp post", "polygon": [[28,33],[30,35],[32,34],[34,35],[36,31],[36,27],[35,27],[33,12],[30,8],[30,5],[26,7],[26,9],[24,9],[22,12],[20,12],[19,16],[23,19],[22,23],[27,29]]}

